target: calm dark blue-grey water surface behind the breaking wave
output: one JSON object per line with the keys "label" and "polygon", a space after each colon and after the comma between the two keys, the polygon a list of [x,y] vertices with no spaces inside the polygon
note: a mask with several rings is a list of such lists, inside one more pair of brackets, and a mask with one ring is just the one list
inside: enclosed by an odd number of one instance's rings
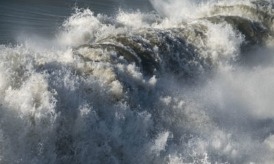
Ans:
{"label": "calm dark blue-grey water surface behind the breaking wave", "polygon": [[73,8],[90,8],[95,14],[114,14],[122,10],[152,10],[148,0],[27,0],[0,1],[0,44],[22,36],[54,36],[58,27],[71,16]]}

